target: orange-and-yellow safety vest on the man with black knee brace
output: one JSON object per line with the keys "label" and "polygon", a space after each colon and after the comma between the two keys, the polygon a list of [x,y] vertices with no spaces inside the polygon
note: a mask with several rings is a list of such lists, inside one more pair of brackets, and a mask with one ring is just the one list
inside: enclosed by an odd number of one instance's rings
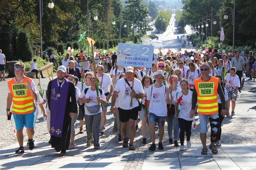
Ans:
{"label": "orange-and-yellow safety vest on the man with black knee brace", "polygon": [[211,76],[209,81],[202,81],[201,78],[194,81],[199,114],[212,115],[218,113],[218,84],[219,79],[213,76]]}

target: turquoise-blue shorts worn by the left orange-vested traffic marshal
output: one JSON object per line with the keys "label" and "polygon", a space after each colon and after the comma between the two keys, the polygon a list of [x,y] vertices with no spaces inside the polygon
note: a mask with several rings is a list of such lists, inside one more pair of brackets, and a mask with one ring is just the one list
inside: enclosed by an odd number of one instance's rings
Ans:
{"label": "turquoise-blue shorts worn by the left orange-vested traffic marshal", "polygon": [[29,114],[24,114],[24,115],[18,115],[18,114],[13,114],[13,118],[15,121],[16,125],[16,130],[24,128],[34,128],[34,121],[35,121],[35,111]]}

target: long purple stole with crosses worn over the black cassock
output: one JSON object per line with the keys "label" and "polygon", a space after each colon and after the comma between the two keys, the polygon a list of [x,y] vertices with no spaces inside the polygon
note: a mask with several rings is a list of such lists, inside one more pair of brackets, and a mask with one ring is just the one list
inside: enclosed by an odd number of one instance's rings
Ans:
{"label": "long purple stole with crosses worn over the black cassock", "polygon": [[51,130],[50,134],[55,137],[62,137],[65,107],[68,97],[69,80],[64,79],[59,87],[58,78],[52,81],[51,87]]}

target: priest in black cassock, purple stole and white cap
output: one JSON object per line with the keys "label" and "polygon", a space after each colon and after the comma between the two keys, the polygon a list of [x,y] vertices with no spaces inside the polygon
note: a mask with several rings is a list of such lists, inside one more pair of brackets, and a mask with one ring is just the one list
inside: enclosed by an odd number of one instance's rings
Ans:
{"label": "priest in black cassock, purple stole and white cap", "polygon": [[75,86],[65,78],[66,68],[59,66],[56,79],[47,87],[47,102],[51,112],[52,148],[66,155],[69,148],[71,118],[77,113]]}

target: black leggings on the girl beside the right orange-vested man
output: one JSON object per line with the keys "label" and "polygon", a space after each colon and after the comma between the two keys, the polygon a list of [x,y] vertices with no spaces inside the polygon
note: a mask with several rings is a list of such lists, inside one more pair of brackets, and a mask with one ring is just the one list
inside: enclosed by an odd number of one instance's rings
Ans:
{"label": "black leggings on the girl beside the right orange-vested man", "polygon": [[182,118],[179,118],[178,120],[180,125],[180,141],[181,141],[181,145],[184,145],[185,132],[186,132],[187,141],[190,140],[191,126],[192,126],[193,120],[188,121]]}

